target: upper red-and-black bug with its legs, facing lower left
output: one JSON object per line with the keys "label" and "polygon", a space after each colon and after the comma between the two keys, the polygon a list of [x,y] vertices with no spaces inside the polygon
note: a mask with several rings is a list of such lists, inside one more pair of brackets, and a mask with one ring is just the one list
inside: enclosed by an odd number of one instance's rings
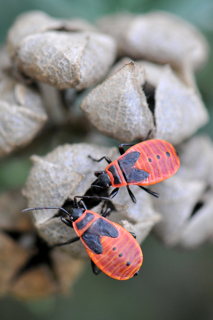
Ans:
{"label": "upper red-and-black bug with its legs, facing lower left", "polygon": [[[132,147],[125,152],[124,146]],[[110,198],[113,198],[118,193],[120,187],[126,186],[135,203],[136,199],[129,189],[129,185],[137,185],[153,196],[158,197],[159,194],[144,188],[144,186],[171,177],[177,172],[180,165],[180,160],[174,147],[164,140],[145,140],[135,145],[123,143],[118,148],[121,156],[113,162],[106,156],[99,160],[89,156],[94,161],[99,162],[105,159],[109,163],[105,171],[95,172],[98,178],[92,183],[91,187],[114,187],[115,189],[109,195]]]}

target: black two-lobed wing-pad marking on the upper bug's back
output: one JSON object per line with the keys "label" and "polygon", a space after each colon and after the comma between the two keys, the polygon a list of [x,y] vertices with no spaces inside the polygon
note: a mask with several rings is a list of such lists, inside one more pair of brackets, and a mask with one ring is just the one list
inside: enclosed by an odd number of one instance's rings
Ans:
{"label": "black two-lobed wing-pad marking on the upper bug's back", "polygon": [[118,164],[127,183],[140,183],[146,180],[149,176],[147,171],[137,169],[135,167],[135,162],[139,159],[139,157],[140,152],[133,151],[124,154],[123,157],[118,160]]}

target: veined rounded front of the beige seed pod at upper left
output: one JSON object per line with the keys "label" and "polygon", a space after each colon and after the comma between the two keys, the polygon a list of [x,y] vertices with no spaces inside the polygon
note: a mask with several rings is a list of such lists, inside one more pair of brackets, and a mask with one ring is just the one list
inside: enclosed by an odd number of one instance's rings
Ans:
{"label": "veined rounded front of the beige seed pod at upper left", "polygon": [[110,36],[48,31],[25,37],[17,59],[20,70],[30,77],[59,89],[81,90],[105,76],[115,54]]}

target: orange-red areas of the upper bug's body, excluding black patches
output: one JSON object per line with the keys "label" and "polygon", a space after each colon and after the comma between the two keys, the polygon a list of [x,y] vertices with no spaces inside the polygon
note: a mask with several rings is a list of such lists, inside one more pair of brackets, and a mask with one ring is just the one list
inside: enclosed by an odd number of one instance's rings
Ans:
{"label": "orange-red areas of the upper bug's body, excluding black patches", "polygon": [[[140,156],[133,167],[142,169],[149,174],[146,180],[139,183],[135,180],[126,181],[119,165],[119,160],[122,160],[126,154],[133,151],[140,153]],[[126,185],[147,186],[171,177],[177,172],[179,165],[179,157],[174,147],[169,142],[164,140],[147,140],[129,148],[122,156],[106,167],[106,172],[110,177],[112,187],[119,188]],[[112,166],[114,166],[113,173],[111,170]],[[115,168],[117,169],[116,173],[114,173],[116,170]],[[116,179],[118,175],[119,179]]]}

